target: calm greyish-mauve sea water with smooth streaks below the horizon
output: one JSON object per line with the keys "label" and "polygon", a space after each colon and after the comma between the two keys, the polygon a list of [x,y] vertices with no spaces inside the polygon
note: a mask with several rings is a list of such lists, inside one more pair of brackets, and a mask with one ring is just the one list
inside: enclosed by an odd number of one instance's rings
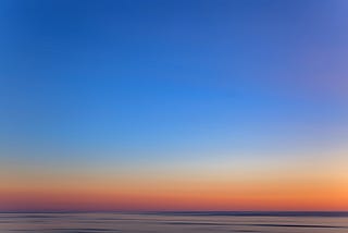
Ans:
{"label": "calm greyish-mauve sea water with smooth streaks below the horizon", "polygon": [[0,213],[0,232],[348,233],[348,213]]}

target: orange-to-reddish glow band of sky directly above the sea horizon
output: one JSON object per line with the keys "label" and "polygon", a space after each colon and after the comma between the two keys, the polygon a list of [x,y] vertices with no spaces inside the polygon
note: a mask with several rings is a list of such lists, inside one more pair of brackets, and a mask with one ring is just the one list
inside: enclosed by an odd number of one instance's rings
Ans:
{"label": "orange-to-reddish glow band of sky directly above the sea horizon", "polygon": [[345,182],[75,183],[1,189],[9,210],[347,210]]}

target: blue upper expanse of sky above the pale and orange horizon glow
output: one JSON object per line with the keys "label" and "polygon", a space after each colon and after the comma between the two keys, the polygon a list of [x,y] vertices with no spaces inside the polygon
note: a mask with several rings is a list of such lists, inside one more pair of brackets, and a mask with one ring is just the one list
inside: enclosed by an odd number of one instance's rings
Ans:
{"label": "blue upper expanse of sky above the pale and orange horizon glow", "polygon": [[348,123],[347,8],[1,1],[1,136],[12,147],[135,157],[339,143]]}

